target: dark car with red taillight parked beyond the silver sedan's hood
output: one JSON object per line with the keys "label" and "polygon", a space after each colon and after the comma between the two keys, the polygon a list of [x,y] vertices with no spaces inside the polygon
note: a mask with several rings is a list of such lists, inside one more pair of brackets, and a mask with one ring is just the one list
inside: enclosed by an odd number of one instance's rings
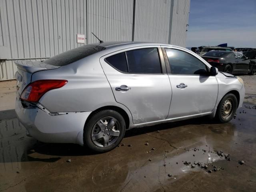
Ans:
{"label": "dark car with red taillight parked beyond the silver sedan's hood", "polygon": [[239,52],[210,51],[204,54],[202,58],[222,72],[256,74],[255,62]]}

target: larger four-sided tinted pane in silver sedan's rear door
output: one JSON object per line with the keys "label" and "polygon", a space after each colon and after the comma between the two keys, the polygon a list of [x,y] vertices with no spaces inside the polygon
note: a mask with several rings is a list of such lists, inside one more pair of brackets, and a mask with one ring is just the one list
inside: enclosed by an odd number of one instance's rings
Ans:
{"label": "larger four-sided tinted pane in silver sedan's rear door", "polygon": [[162,73],[157,48],[131,50],[127,51],[126,55],[130,73]]}

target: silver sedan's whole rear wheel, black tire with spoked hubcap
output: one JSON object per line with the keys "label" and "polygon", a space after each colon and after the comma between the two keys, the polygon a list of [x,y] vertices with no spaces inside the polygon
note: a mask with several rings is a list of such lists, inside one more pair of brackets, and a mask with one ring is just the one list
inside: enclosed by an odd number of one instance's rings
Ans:
{"label": "silver sedan's whole rear wheel, black tire with spoked hubcap", "polygon": [[[114,125],[110,126],[112,120]],[[125,126],[123,116],[114,110],[96,112],[84,127],[84,146],[94,152],[108,152],[120,144],[126,130]],[[118,131],[119,136],[114,136]]]}

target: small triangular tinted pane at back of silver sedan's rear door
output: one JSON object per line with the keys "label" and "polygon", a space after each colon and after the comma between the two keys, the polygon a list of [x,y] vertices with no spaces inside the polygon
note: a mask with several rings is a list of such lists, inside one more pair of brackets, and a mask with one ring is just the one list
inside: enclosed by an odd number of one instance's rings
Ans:
{"label": "small triangular tinted pane at back of silver sedan's rear door", "polygon": [[112,67],[121,72],[128,72],[125,53],[119,53],[105,59]]}

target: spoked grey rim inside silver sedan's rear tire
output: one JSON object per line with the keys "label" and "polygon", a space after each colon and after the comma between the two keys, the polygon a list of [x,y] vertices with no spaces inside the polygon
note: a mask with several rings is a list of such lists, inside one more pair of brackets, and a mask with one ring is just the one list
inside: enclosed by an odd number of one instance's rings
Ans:
{"label": "spoked grey rim inside silver sedan's rear tire", "polygon": [[120,123],[114,117],[107,116],[98,120],[91,133],[92,142],[102,148],[111,146],[120,136]]}

